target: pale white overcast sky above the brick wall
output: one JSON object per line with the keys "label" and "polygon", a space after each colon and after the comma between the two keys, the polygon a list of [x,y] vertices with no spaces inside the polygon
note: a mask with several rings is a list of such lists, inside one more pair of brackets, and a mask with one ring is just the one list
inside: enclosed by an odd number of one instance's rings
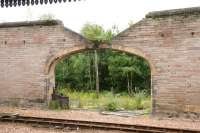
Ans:
{"label": "pale white overcast sky above the brick wall", "polygon": [[62,4],[30,7],[0,8],[0,22],[37,20],[43,14],[52,14],[65,27],[80,32],[85,23],[95,23],[105,29],[113,25],[119,30],[136,23],[150,11],[200,6],[200,0],[82,0]]}

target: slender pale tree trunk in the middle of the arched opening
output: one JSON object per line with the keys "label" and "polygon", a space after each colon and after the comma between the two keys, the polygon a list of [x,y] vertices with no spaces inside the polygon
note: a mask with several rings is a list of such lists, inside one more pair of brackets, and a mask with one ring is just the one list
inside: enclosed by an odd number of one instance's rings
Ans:
{"label": "slender pale tree trunk in the middle of the arched opening", "polygon": [[96,72],[96,95],[99,98],[99,70],[98,70],[98,54],[97,50],[94,50],[95,54],[95,72]]}

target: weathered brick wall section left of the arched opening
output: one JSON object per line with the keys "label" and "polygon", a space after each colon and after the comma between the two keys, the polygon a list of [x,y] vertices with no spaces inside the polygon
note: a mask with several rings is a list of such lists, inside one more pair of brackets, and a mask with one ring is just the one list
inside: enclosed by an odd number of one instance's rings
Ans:
{"label": "weathered brick wall section left of the arched opening", "polygon": [[[54,22],[54,21],[53,21]],[[0,25],[0,101],[45,101],[53,88],[45,67],[64,49],[86,45],[60,22],[22,22]]]}

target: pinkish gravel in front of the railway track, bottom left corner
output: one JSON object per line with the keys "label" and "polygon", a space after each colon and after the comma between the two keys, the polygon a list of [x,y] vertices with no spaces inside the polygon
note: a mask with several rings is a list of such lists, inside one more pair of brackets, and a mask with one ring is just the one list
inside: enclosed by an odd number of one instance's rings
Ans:
{"label": "pinkish gravel in front of the railway track, bottom left corner", "polygon": [[100,130],[69,130],[69,129],[53,129],[53,128],[37,128],[24,124],[11,124],[0,122],[0,133],[125,133],[116,131],[100,131]]}

